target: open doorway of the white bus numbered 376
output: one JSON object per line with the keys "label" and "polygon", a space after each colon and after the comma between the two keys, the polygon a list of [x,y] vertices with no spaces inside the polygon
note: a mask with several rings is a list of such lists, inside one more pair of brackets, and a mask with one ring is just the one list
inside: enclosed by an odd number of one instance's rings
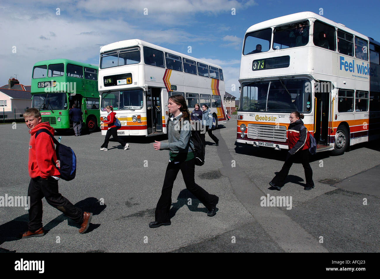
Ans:
{"label": "open doorway of the white bus numbered 376", "polygon": [[146,94],[148,135],[162,133],[161,89],[150,87]]}

